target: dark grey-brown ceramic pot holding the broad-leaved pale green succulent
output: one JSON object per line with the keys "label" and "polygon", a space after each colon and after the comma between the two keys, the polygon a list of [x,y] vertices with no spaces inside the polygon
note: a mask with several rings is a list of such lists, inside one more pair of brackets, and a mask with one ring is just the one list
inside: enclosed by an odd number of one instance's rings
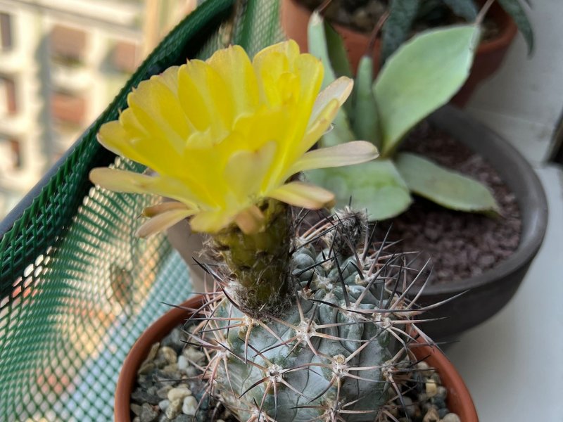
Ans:
{"label": "dark grey-brown ceramic pot holding the broad-leaved pale green succulent", "polygon": [[[424,317],[434,321],[420,324],[434,341],[455,340],[463,331],[499,312],[517,292],[543,242],[548,227],[548,200],[528,160],[463,110],[445,106],[430,115],[428,121],[488,161],[514,193],[521,217],[520,242],[512,255],[482,274],[449,283],[431,283],[422,291],[418,302],[421,306],[463,293],[426,312]],[[413,298],[417,289],[411,291]]]}

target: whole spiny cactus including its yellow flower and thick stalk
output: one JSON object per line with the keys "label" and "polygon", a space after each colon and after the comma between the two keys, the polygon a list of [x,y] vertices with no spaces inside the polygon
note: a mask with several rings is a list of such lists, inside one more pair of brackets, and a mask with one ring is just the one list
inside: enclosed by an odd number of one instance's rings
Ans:
{"label": "whole spiny cactus including its yellow flower and thick stalk", "polygon": [[[293,41],[253,60],[239,46],[141,82],[99,141],[152,170],[94,169],[104,188],[173,201],[147,207],[139,236],[188,218],[210,236],[201,266],[215,281],[193,342],[208,354],[208,392],[241,421],[374,421],[412,373],[419,335],[406,300],[406,256],[388,256],[367,217],[305,211],[334,195],[304,170],[377,157],[354,141],[309,151],[352,89],[320,92],[322,63]],[[404,292],[404,293],[398,293]]]}

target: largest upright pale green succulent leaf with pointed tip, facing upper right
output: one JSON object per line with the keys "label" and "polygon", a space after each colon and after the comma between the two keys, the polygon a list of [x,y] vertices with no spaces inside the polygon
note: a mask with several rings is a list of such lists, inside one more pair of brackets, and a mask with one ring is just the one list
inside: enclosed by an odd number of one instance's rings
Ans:
{"label": "largest upright pale green succulent leaf with pointed tip, facing upper right", "polygon": [[479,32],[476,25],[423,32],[387,60],[373,86],[382,155],[390,155],[415,124],[450,101],[462,87]]}

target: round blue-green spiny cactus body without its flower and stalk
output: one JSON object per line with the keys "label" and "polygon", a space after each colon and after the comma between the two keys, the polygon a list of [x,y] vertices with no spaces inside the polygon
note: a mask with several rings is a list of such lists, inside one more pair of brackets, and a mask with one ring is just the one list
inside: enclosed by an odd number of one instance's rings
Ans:
{"label": "round blue-green spiny cactus body without its flower and stalk", "polygon": [[396,374],[422,312],[398,293],[407,290],[406,257],[372,245],[366,216],[351,210],[301,231],[276,266],[291,274],[273,308],[242,312],[236,274],[244,269],[202,264],[222,291],[194,317],[210,392],[241,421],[374,421],[400,395]]}

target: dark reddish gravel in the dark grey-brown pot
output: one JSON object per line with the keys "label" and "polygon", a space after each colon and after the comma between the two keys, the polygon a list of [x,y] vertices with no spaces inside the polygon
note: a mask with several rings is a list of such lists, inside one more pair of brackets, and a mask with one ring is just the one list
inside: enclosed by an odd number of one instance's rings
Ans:
{"label": "dark reddish gravel in the dark grey-brown pot", "polygon": [[379,223],[380,237],[392,222],[389,240],[400,240],[398,250],[422,251],[421,262],[431,257],[433,283],[477,276],[517,250],[521,231],[517,200],[486,158],[426,123],[408,136],[403,149],[486,184],[500,205],[502,217],[452,211],[415,196],[409,210]]}

